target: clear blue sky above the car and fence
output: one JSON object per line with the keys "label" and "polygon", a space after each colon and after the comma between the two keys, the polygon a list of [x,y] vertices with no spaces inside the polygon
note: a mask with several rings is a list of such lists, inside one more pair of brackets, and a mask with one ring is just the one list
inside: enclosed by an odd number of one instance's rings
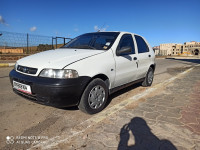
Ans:
{"label": "clear blue sky above the car and fence", "polygon": [[0,31],[76,37],[102,28],[152,46],[200,42],[200,0],[0,0]]}

